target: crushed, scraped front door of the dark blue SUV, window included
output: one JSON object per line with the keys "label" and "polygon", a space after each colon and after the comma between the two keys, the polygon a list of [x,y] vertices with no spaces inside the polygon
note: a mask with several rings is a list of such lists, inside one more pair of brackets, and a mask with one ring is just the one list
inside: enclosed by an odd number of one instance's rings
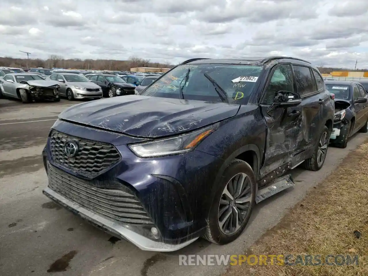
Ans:
{"label": "crushed, scraped front door of the dark blue SUV, window included", "polygon": [[277,107],[270,112],[269,108],[277,91],[296,91],[291,64],[278,64],[273,68],[261,98],[260,106],[267,127],[265,161],[260,170],[261,178],[277,169],[283,170],[285,164],[291,162],[298,147],[297,141],[302,126],[299,106]]}

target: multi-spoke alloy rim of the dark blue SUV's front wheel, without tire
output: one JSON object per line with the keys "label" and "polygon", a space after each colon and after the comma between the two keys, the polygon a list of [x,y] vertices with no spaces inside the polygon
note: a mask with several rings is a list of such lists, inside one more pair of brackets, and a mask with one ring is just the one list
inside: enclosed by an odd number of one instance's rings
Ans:
{"label": "multi-spoke alloy rim of the dark blue SUV's front wheel, without tire", "polygon": [[226,184],[219,203],[218,223],[220,230],[234,234],[248,216],[252,201],[252,183],[245,173],[238,173]]}

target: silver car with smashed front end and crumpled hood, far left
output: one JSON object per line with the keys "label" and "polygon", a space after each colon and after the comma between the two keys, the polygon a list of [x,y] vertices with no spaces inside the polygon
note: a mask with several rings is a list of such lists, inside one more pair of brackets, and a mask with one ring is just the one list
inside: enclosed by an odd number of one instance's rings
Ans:
{"label": "silver car with smashed front end and crumpled hood, far left", "polygon": [[12,73],[0,78],[0,98],[21,99],[22,103],[37,100],[59,102],[59,89],[57,81],[46,81],[37,74]]}

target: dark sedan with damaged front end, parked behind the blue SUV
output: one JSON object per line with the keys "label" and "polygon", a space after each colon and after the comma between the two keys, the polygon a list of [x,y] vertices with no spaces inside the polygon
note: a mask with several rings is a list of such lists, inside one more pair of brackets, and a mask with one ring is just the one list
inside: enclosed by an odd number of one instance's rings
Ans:
{"label": "dark sedan with damaged front end, parked behind the blue SUV", "polygon": [[338,148],[346,148],[349,137],[368,132],[367,91],[357,81],[326,80],[326,88],[335,94],[335,118],[330,137]]}

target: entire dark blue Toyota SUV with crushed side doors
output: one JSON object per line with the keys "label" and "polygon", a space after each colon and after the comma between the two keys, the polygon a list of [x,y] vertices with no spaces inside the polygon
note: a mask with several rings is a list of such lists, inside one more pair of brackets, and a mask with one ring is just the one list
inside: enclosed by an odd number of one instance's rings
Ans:
{"label": "entire dark blue Toyota SUV with crushed side doors", "polygon": [[227,244],[255,204],[325,162],[334,101],[292,57],[191,59],[138,95],[68,107],[43,150],[43,194],[141,250]]}

